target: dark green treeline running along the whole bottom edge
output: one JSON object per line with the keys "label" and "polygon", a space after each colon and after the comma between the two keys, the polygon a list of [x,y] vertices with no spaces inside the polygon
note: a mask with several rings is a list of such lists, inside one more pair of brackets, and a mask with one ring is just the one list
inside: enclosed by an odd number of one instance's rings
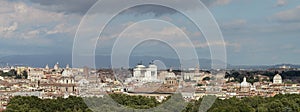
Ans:
{"label": "dark green treeline running along the whole bottom edge", "polygon": [[[176,97],[176,96],[175,96]],[[115,102],[110,100],[114,99]],[[157,102],[154,97],[129,96],[124,94],[111,94],[110,98],[69,98],[39,99],[37,97],[14,97],[9,102],[7,112],[110,112],[110,111],[183,111],[198,112],[200,104],[205,105],[202,99],[185,103],[182,100],[168,98],[163,103]],[[119,104],[117,104],[117,103]],[[122,104],[122,105],[120,105]],[[245,97],[217,99],[208,112],[299,112],[300,95],[276,95],[274,97]],[[88,108],[90,107],[90,108]],[[155,108],[153,108],[155,107]],[[135,109],[139,110],[135,110]],[[143,110],[151,108],[151,110]]]}

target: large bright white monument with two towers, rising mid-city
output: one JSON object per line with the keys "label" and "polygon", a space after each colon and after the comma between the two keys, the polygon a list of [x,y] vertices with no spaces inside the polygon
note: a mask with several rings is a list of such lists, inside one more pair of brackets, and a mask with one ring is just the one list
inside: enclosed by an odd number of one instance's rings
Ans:
{"label": "large bright white monument with two towers, rising mid-city", "polygon": [[154,82],[157,79],[157,66],[150,63],[148,67],[138,64],[133,69],[133,79],[143,82]]}

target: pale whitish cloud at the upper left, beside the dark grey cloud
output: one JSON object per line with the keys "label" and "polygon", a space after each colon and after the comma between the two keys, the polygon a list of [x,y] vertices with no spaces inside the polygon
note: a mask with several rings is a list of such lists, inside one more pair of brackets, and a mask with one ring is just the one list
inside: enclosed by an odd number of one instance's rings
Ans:
{"label": "pale whitish cloud at the upper left, beside the dark grey cloud", "polygon": [[79,22],[81,18],[37,9],[24,2],[1,0],[0,6],[0,38],[32,39],[47,34],[70,33],[77,25],[70,21]]}

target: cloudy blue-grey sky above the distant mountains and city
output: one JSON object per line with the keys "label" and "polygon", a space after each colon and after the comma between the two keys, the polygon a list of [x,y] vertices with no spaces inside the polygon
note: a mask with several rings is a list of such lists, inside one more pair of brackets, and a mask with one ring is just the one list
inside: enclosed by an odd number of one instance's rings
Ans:
{"label": "cloudy blue-grey sky above the distant mountains and city", "polygon": [[[77,27],[85,12],[96,0],[1,0],[0,57],[9,55],[70,54]],[[227,49],[227,62],[234,65],[300,64],[300,1],[298,0],[202,0],[219,24]],[[109,0],[111,6],[95,13],[95,21],[111,14],[110,7],[126,4]],[[177,0],[182,9],[199,10],[192,2]],[[116,32],[122,32],[138,20],[160,18],[176,23],[196,46],[200,58],[210,58],[209,46],[201,31],[182,14],[163,7],[136,7],[126,10],[110,23],[103,39],[98,40],[96,53],[109,55]],[[141,29],[147,25],[149,29]],[[89,28],[86,28],[89,38]],[[176,39],[178,29],[167,24],[137,24],[124,33],[127,38],[155,35]],[[88,39],[87,39],[88,40]],[[95,41],[93,39],[89,41]],[[99,42],[101,41],[101,42]],[[219,42],[210,45],[222,45]],[[149,47],[151,46],[151,47]],[[153,41],[136,47],[135,55],[174,57],[169,48]],[[147,50],[145,50],[147,49]],[[164,53],[165,52],[165,53]]]}

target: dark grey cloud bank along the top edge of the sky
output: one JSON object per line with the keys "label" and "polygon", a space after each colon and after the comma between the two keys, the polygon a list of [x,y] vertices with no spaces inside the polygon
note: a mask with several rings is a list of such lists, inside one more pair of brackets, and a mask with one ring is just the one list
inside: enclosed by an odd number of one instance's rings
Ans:
{"label": "dark grey cloud bank along the top edge of the sky", "polygon": [[[65,12],[65,13],[76,13],[76,14],[85,14],[85,12],[92,7],[93,4],[97,2],[97,0],[29,0],[32,3],[34,3],[35,7],[44,9],[44,10],[51,10],[55,12]],[[144,0],[145,2],[148,2],[149,0]],[[153,0],[151,0],[153,1]],[[170,3],[173,6],[177,6],[180,9],[184,10],[194,10],[198,8],[198,0],[191,0],[191,1],[185,1],[185,0],[159,0],[160,2]],[[226,5],[232,2],[232,0],[200,0],[202,1],[206,6],[217,6],[217,5]],[[112,7],[122,7],[126,6],[131,1],[125,1],[122,2],[120,0],[102,0],[102,4],[106,4],[105,6],[102,6],[101,9],[99,9],[102,13],[111,13],[114,12],[114,8]],[[122,3],[121,3],[122,2]],[[159,9],[159,10],[157,10]],[[155,11],[157,10],[157,11]],[[99,12],[100,12],[99,11]],[[134,9],[130,10],[131,13],[138,13],[143,14],[147,12],[154,12],[157,15],[162,14],[168,14],[173,13],[170,10],[166,10],[163,8],[153,8],[153,7],[143,7],[141,9]]]}

